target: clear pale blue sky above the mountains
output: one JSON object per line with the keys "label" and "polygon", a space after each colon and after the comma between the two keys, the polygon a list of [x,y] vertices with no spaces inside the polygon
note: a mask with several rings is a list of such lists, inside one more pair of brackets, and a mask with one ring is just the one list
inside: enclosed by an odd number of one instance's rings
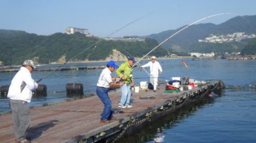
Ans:
{"label": "clear pale blue sky above the mountains", "polygon": [[232,12],[202,21],[220,24],[237,15],[256,15],[254,0],[0,0],[0,29],[13,29],[49,35],[64,32],[67,27],[89,29],[95,36],[105,37],[129,25],[112,37],[146,36],[183,25],[212,14]]}

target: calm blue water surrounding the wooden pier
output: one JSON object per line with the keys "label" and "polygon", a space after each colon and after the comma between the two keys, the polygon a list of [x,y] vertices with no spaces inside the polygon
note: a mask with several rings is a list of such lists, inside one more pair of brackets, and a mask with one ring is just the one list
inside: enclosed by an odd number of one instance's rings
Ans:
{"label": "calm blue water surrounding the wooden pier", "polygon": [[[256,60],[159,60],[163,67],[161,80],[190,76],[196,80],[222,79],[225,84],[241,85],[256,80]],[[142,64],[145,64],[143,61]],[[121,64],[121,62],[118,62]],[[105,63],[68,64],[67,66],[104,66]],[[50,65],[56,67],[59,65]],[[49,67],[47,66],[40,66]],[[73,98],[65,93],[67,83],[82,83],[84,94],[95,93],[101,70],[57,71],[41,83],[47,85],[46,97],[34,97],[30,106]],[[49,72],[33,72],[37,80]],[[0,86],[9,85],[15,73],[0,73]],[[115,76],[115,74],[114,74]],[[148,77],[143,70],[134,70],[134,77]],[[136,79],[135,82],[148,79]],[[255,85],[253,83],[252,85]],[[59,91],[60,93],[54,93]],[[1,96],[0,112],[10,111],[8,99]],[[256,91],[225,90],[215,99],[204,99],[192,107],[167,116],[128,137],[125,142],[256,142]]]}

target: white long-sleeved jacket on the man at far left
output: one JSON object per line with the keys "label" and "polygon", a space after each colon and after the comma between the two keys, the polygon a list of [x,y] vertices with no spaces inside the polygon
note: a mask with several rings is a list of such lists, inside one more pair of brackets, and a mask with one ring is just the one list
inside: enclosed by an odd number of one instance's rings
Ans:
{"label": "white long-sleeved jacket on the man at far left", "polygon": [[[23,90],[20,87],[22,83],[26,84]],[[21,67],[13,77],[13,80],[11,80],[11,85],[7,97],[10,99],[22,100],[29,103],[32,98],[31,90],[36,90],[37,88],[38,84],[36,84],[32,79],[30,71],[28,71],[25,67]]]}

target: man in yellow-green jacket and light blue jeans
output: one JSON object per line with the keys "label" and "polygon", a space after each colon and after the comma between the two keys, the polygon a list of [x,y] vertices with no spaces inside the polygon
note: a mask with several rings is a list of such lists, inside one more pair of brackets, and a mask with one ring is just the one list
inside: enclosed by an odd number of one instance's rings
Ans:
{"label": "man in yellow-green jacket and light blue jeans", "polygon": [[133,106],[130,105],[130,97],[131,91],[130,87],[134,85],[133,83],[133,65],[135,64],[134,57],[129,57],[128,61],[122,63],[117,69],[117,75],[122,77],[122,80],[125,81],[125,84],[121,86],[122,96],[119,102],[119,108],[131,108]]}

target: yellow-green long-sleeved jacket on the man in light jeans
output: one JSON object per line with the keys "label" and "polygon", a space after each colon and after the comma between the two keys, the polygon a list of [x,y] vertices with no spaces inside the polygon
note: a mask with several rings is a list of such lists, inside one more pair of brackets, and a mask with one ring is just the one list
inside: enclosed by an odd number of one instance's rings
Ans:
{"label": "yellow-green long-sleeved jacket on the man in light jeans", "polygon": [[[122,63],[119,68],[117,69],[117,75],[119,77],[125,77],[126,80],[125,80],[125,83],[126,84],[130,84],[131,81],[133,80],[133,75],[132,75],[132,72],[133,72],[133,68],[131,68],[130,64],[128,63],[128,61]],[[125,75],[123,75],[125,74]]]}

